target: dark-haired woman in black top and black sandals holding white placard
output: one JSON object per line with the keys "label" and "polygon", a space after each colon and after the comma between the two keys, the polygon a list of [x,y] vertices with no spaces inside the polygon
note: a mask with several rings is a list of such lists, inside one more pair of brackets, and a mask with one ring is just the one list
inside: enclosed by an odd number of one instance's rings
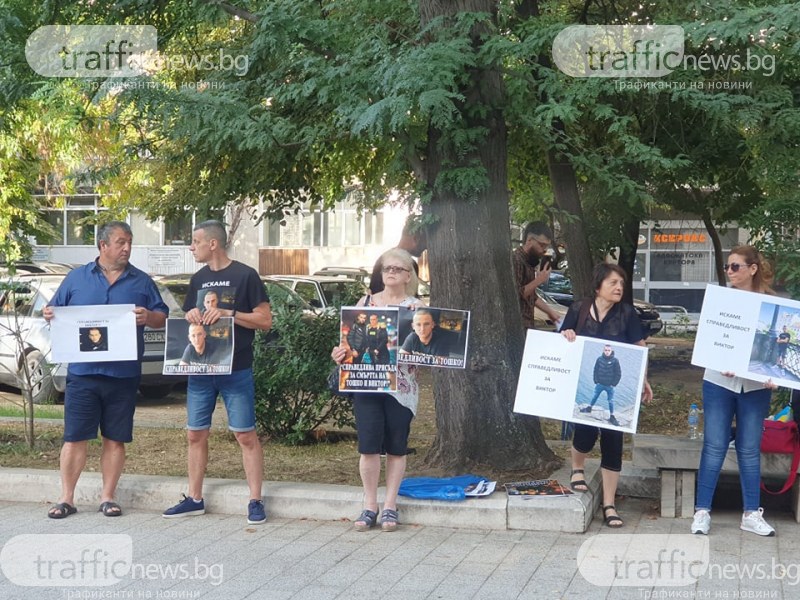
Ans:
{"label": "dark-haired woman in black top and black sandals holding white placard", "polygon": [[[600,264],[592,273],[594,294],[570,306],[564,317],[561,335],[575,341],[576,335],[644,346],[642,326],[636,310],[623,304],[625,271],[618,265]],[[645,380],[642,401],[653,398],[653,390]],[[619,473],[622,470],[622,432],[575,424],[572,438],[572,489],[585,492],[589,488],[583,478],[586,456],[600,436],[600,467],[603,476],[603,517],[609,527],[622,527],[623,522],[614,507]]]}

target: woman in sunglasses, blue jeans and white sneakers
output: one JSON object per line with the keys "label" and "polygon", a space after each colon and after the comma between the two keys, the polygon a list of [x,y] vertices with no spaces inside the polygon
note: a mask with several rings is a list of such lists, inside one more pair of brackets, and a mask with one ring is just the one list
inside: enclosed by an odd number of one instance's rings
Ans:
{"label": "woman in sunglasses, blue jeans and white sneakers", "polygon": [[[737,246],[725,265],[731,287],[747,292],[772,294],[771,270],[752,246]],[[736,458],[742,488],[744,513],[740,529],[757,535],[775,535],[759,507],[761,492],[761,431],[769,413],[772,381],[760,382],[737,377],[730,371],[706,369],[703,375],[703,452],[697,473],[697,504],[692,533],[708,534],[711,501],[719,472],[728,452],[731,425],[736,417]]]}

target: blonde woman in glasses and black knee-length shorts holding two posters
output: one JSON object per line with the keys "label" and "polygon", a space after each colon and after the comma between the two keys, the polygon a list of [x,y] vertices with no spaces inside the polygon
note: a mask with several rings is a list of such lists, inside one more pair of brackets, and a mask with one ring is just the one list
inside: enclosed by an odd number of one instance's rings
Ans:
{"label": "blonde woman in glasses and black knee-length shorts holding two posters", "polygon": [[[383,290],[367,295],[358,306],[406,306],[423,304],[414,297],[419,281],[414,259],[405,250],[392,248],[380,259]],[[341,364],[347,357],[346,346],[336,346],[331,358]],[[411,420],[417,412],[419,388],[416,367],[397,367],[397,391],[391,393],[353,394],[353,414],[358,432],[359,473],[364,488],[364,510],[354,526],[366,531],[378,521],[378,483],[381,477],[381,453],[386,452],[386,497],[380,516],[382,531],[397,529],[397,492],[406,472],[406,452]]]}

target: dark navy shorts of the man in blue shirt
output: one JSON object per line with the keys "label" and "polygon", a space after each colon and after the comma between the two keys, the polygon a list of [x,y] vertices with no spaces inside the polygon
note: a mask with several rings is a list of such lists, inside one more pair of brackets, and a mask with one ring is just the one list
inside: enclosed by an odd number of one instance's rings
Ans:
{"label": "dark navy shorts of the man in blue shirt", "polygon": [[133,441],[139,377],[67,375],[64,441],[83,442],[100,434],[113,442]]}

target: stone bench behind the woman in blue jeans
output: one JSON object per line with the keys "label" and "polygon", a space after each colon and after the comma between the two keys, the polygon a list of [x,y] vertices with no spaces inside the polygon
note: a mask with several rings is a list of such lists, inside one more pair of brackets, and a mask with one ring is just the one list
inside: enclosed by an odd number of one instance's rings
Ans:
{"label": "stone bench behind the woman in blue jeans", "polygon": [[[661,480],[661,516],[691,517],[694,514],[697,469],[702,440],[683,436],[637,434],[633,437],[633,465],[658,469]],[[761,474],[768,479],[786,480],[792,457],[788,454],[762,454]],[[736,450],[731,448],[722,464],[722,473],[738,474]],[[771,487],[774,488],[773,484]],[[800,477],[792,486],[792,512],[800,523]]]}

